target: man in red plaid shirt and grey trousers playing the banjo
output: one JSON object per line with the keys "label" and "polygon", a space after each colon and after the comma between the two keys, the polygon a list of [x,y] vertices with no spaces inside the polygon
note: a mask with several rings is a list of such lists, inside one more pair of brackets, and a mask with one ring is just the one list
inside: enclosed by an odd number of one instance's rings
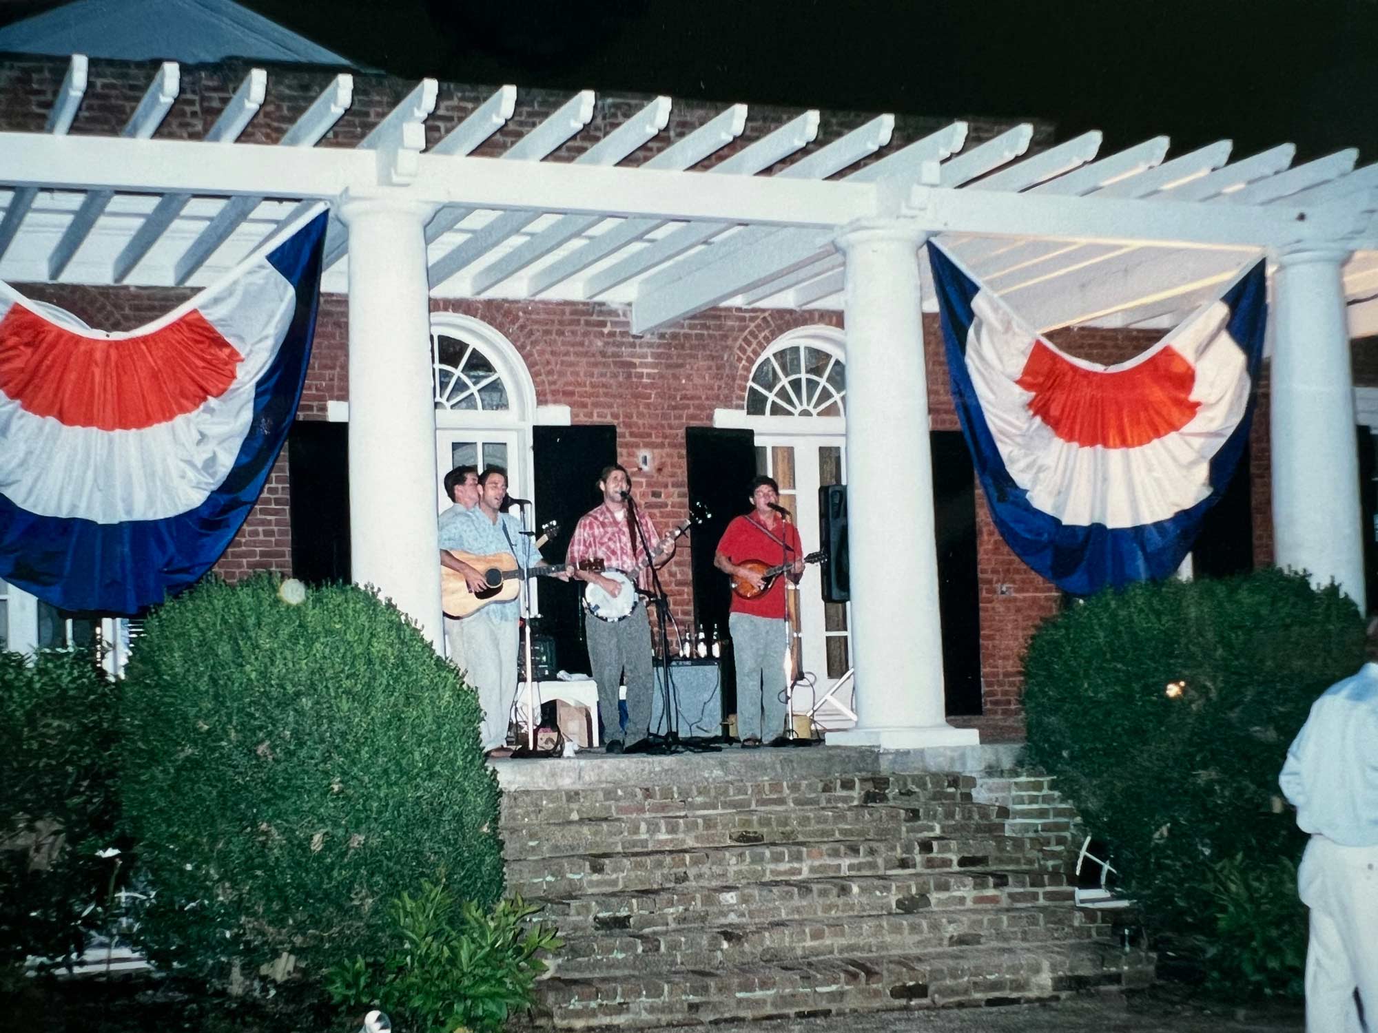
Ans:
{"label": "man in red plaid shirt and grey trousers playing the banjo", "polygon": [[[587,559],[601,559],[604,567],[631,570],[646,556],[649,548],[656,566],[668,562],[675,551],[674,537],[664,541],[656,537],[655,523],[631,499],[631,475],[626,467],[616,463],[604,467],[598,474],[598,490],[602,492],[602,503],[579,518],[565,561],[579,565]],[[635,585],[590,570],[580,570],[573,577],[597,584],[612,596],[635,591]],[[646,581],[649,577],[649,570],[642,572],[641,580]],[[586,610],[584,635],[588,640],[588,662],[598,683],[598,715],[604,723],[606,749],[609,753],[620,753],[624,744],[619,730],[617,686],[623,672],[627,674],[626,748],[641,742],[650,729],[655,674],[646,607],[638,599],[631,613],[619,621],[599,620]]]}

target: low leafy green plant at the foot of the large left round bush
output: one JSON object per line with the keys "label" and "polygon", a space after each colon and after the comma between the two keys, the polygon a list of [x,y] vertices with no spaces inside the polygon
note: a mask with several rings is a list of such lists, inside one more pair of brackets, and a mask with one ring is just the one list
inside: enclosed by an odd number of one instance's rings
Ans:
{"label": "low leafy green plant at the foot of the large left round bush", "polygon": [[[496,1033],[531,1007],[542,953],[562,945],[553,927],[531,926],[539,908],[517,897],[491,912],[438,883],[393,901],[397,935],[382,961],[336,966],[325,981],[331,999],[350,1008],[378,1007],[400,1029],[426,1033]],[[457,919],[457,920],[456,920]]]}

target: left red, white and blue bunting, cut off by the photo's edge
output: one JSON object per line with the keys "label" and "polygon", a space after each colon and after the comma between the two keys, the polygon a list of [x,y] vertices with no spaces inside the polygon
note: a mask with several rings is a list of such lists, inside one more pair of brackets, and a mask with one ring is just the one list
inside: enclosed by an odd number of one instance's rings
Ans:
{"label": "left red, white and blue bunting, cut off by the photo's edge", "polygon": [[325,220],[131,332],[0,284],[0,578],[134,614],[219,559],[296,413]]}

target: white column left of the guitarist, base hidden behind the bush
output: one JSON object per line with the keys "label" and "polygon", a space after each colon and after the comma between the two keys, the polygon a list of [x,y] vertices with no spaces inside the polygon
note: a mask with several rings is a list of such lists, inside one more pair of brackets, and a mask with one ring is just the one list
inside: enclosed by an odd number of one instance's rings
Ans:
{"label": "white column left of the guitarist, base hidden behind the bush", "polygon": [[435,404],[426,220],[402,200],[346,200],[349,515],[356,584],[412,617],[444,650],[435,530]]}

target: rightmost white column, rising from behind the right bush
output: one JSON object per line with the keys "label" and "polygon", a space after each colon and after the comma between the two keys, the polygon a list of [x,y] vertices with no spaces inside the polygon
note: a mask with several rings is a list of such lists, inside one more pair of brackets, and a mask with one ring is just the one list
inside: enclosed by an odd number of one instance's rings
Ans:
{"label": "rightmost white column, rising from behind the right bush", "polygon": [[1363,609],[1348,259],[1339,247],[1290,251],[1273,274],[1273,543],[1277,566],[1308,570],[1317,585],[1334,580]]}

